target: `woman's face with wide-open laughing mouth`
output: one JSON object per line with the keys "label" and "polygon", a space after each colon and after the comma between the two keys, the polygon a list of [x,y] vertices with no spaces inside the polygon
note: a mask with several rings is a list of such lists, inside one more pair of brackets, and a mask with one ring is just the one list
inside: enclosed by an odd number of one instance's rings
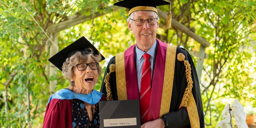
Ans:
{"label": "woman's face with wide-open laughing mouth", "polygon": [[[88,58],[86,62],[82,63],[92,63],[95,62],[93,58]],[[74,86],[76,89],[80,88],[81,90],[88,91],[88,94],[94,89],[95,84],[97,83],[98,70],[92,70],[89,65],[83,71],[79,71],[77,67],[73,68],[74,70]]]}

